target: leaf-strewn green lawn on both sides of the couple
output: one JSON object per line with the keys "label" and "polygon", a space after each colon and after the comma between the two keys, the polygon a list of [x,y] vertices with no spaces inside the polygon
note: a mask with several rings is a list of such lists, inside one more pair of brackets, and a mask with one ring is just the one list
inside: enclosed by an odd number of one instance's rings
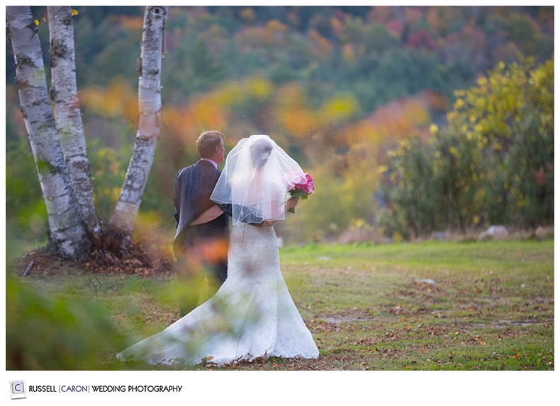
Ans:
{"label": "leaf-strewn green lawn on both sides of the couple", "polygon": [[[282,248],[280,260],[320,358],[233,369],[554,370],[554,241],[306,245]],[[96,294],[80,272],[22,282],[104,309],[117,344],[87,369],[153,369],[120,364],[114,352],[177,320],[174,280],[98,277]]]}

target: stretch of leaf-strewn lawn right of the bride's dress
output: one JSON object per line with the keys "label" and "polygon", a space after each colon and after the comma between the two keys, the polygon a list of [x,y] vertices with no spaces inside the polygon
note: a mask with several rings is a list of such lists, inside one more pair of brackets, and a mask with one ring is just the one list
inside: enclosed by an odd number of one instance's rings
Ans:
{"label": "stretch of leaf-strewn lawn right of the bride's dress", "polygon": [[321,369],[554,369],[553,243],[309,247],[282,259]]}

